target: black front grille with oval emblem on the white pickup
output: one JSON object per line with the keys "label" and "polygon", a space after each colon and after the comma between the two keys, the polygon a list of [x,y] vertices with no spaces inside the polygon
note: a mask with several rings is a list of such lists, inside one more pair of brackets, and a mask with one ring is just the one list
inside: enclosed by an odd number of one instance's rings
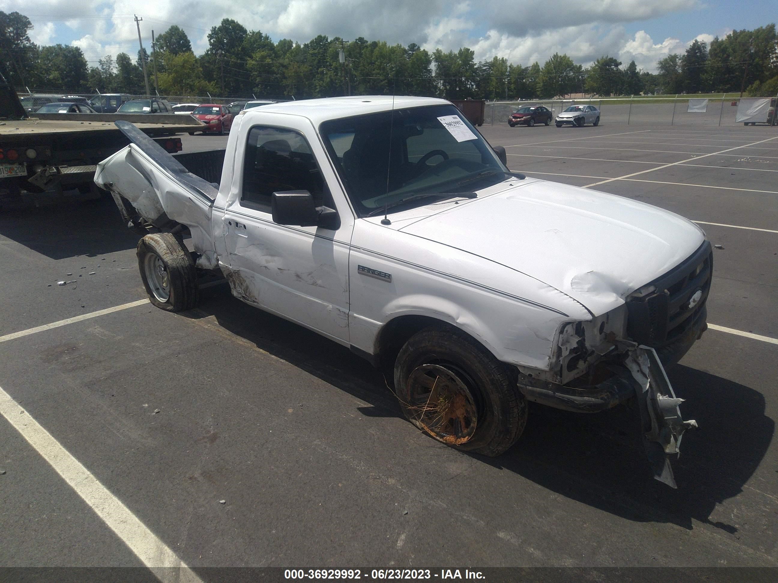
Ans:
{"label": "black front grille with oval emblem on the white pickup", "polygon": [[651,281],[655,292],[627,302],[629,337],[654,348],[680,340],[706,313],[712,274],[713,253],[706,241],[682,264]]}

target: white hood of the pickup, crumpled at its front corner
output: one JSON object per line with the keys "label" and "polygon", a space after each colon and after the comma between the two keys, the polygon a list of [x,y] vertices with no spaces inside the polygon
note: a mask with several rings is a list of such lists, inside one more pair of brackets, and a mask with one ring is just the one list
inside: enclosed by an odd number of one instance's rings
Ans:
{"label": "white hood of the pickup, crumpled at its front corner", "polygon": [[400,230],[530,275],[595,316],[621,305],[705,240],[699,227],[670,211],[532,179]]}

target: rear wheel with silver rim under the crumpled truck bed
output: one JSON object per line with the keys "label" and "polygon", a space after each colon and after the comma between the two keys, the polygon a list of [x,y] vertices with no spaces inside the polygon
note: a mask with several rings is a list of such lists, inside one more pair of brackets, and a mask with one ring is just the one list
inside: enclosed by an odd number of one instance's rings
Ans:
{"label": "rear wheel with silver rim under the crumpled truck bed", "polygon": [[149,301],[166,312],[195,308],[200,299],[191,253],[168,232],[138,241],[138,268]]}

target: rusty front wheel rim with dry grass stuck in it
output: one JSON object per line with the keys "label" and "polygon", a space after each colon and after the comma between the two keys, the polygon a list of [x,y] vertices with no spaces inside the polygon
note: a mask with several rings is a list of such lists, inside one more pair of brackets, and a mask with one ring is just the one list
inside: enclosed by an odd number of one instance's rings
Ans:
{"label": "rusty front wheel rim with dry grass stuck in it", "polygon": [[438,441],[461,445],[475,434],[478,408],[461,376],[441,365],[421,365],[408,375],[406,403],[413,424]]}

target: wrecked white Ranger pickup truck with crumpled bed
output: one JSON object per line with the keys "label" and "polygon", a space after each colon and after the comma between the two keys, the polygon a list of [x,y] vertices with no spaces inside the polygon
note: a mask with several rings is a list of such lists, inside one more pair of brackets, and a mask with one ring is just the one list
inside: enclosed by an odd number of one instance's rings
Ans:
{"label": "wrecked white Ranger pickup truck with crumpled bed", "polygon": [[[219,184],[136,131],[100,163],[151,302],[233,295],[391,370],[402,410],[454,448],[496,456],[527,401],[592,413],[636,403],[654,477],[682,421],[664,374],[706,329],[710,243],[694,223],[506,167],[443,99],[359,96],[241,112]],[[184,246],[191,237],[194,251]]]}

